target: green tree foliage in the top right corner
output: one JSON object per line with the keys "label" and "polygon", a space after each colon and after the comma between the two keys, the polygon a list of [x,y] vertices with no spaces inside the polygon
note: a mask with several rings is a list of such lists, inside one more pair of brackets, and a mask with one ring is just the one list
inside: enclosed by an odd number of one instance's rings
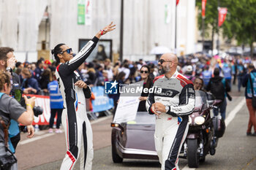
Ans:
{"label": "green tree foliage in the top right corner", "polygon": [[[256,36],[256,0],[219,0],[220,7],[227,7],[225,22],[220,28],[223,36],[236,39],[238,44],[250,45],[255,42]],[[206,3],[205,28],[214,28],[218,32],[217,10],[218,0],[208,0]],[[196,0],[197,7],[202,9],[202,0]],[[198,25],[202,28],[202,17],[198,15]]]}

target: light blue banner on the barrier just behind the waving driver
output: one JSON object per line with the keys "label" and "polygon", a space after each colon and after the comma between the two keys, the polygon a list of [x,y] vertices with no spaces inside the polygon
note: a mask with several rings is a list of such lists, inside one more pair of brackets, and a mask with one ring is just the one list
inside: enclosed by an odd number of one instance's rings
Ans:
{"label": "light blue banner on the barrier just behind the waving driver", "polygon": [[93,112],[102,112],[114,107],[113,98],[105,96],[105,88],[98,86],[92,87],[91,91],[94,93],[95,100],[91,101],[93,106]]}

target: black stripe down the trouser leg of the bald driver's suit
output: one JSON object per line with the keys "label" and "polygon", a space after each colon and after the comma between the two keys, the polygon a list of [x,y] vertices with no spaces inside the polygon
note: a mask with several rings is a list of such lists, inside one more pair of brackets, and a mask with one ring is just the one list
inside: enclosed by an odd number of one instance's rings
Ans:
{"label": "black stripe down the trouser leg of the bald driver's suit", "polygon": [[175,139],[173,140],[172,147],[170,147],[170,152],[167,160],[165,161],[165,170],[172,170],[176,167],[175,163],[178,156],[178,150],[181,146],[182,138],[184,137],[184,132],[187,128],[187,123],[189,116],[182,117],[180,125],[178,125],[178,131],[176,133]]}

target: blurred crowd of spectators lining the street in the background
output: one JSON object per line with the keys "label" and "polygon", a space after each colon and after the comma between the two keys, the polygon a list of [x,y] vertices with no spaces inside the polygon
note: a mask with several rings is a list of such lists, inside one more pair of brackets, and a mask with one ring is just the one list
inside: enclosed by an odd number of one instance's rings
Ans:
{"label": "blurred crowd of spectators lining the street in the background", "polygon": [[[221,75],[233,85],[238,80],[238,91],[241,90],[241,82],[246,67],[252,61],[250,58],[240,58],[228,56],[220,58],[218,56],[208,57],[202,54],[193,54],[178,57],[178,72],[184,74],[189,80],[195,80],[195,77],[201,77],[206,87],[208,80],[213,77],[213,71],[216,67],[221,70]],[[91,61],[83,63],[78,68],[78,73],[87,85],[104,86],[106,81],[118,80],[125,84],[138,82],[141,80],[140,68],[147,65],[149,68],[149,77],[151,80],[158,76],[158,61],[129,61],[124,60],[112,63],[109,58],[105,61]],[[21,87],[25,93],[49,95],[48,84],[53,81],[53,74],[56,69],[56,62],[40,58],[37,63],[16,63],[15,72],[20,76]]]}

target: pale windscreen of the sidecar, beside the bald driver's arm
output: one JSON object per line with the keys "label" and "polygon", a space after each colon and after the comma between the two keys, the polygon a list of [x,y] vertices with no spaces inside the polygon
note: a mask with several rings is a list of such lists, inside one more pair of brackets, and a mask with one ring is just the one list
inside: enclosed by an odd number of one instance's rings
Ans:
{"label": "pale windscreen of the sidecar, beside the bald driver's arm", "polygon": [[[142,124],[142,125],[148,125],[148,124],[155,124],[156,117],[154,115],[149,115],[148,112],[137,112],[136,119],[132,124]],[[128,124],[130,124],[128,122]]]}

